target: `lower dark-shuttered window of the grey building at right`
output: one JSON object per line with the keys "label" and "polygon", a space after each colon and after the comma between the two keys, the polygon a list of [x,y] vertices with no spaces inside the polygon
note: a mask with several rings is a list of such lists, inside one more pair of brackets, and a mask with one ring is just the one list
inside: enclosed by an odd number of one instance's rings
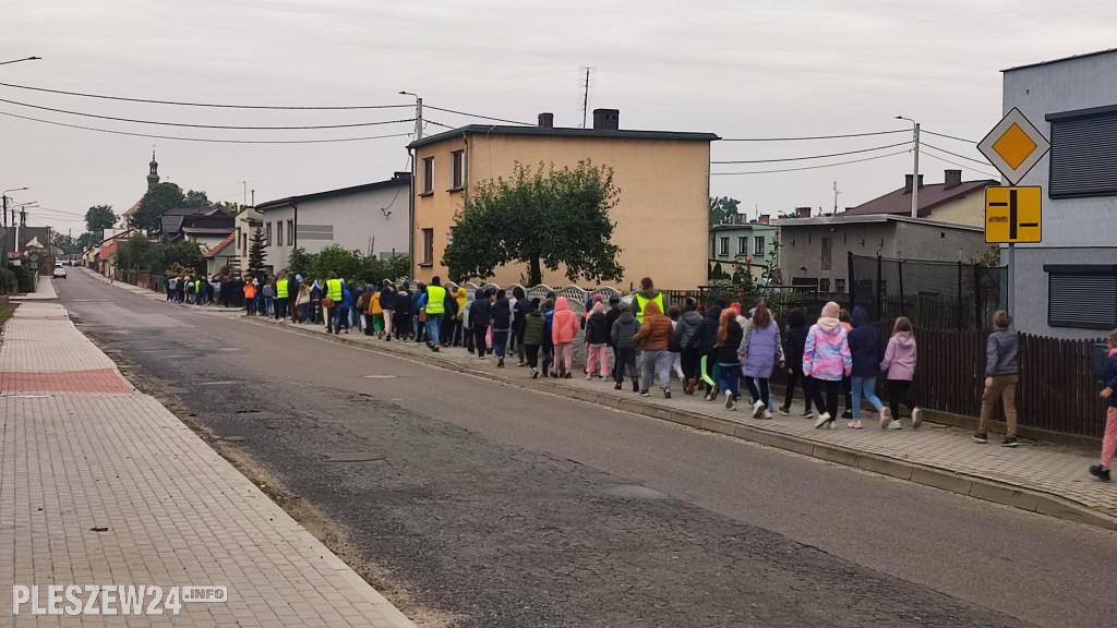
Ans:
{"label": "lower dark-shuttered window of the grey building at right", "polygon": [[1044,264],[1048,325],[1083,330],[1117,327],[1117,265]]}

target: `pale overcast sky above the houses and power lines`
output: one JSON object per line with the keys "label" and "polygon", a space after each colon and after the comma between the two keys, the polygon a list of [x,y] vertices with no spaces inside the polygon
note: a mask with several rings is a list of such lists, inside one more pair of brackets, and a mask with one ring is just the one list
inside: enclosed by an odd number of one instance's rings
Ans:
{"label": "pale overcast sky above the houses and power lines", "polygon": [[[408,170],[407,135],[321,144],[201,143],[70,129],[212,140],[401,135],[410,122],[309,131],[206,130],[73,115],[222,126],[365,124],[414,116],[427,134],[485,120],[441,107],[556,126],[590,108],[620,110],[621,129],[712,132],[726,139],[909,130],[980,141],[1001,117],[1002,69],[1117,47],[1111,0],[4,0],[0,83],[141,99],[235,105],[407,105],[363,111],[246,111],[95,99],[0,86],[0,189],[37,201],[28,225],[84,230],[94,204],[120,213],[146,189],[155,145],[163,181],[211,200],[264,202],[391,178]],[[1115,68],[1117,72],[1117,68]],[[20,104],[16,104],[20,103]],[[591,117],[592,121],[592,117]],[[592,124],[592,122],[591,122]],[[973,144],[925,135],[981,159]],[[876,149],[909,133],[811,142],[717,142],[715,161]],[[802,168],[821,160],[715,164],[714,172]],[[955,168],[920,153],[926,181]],[[965,180],[992,165],[945,153]],[[973,169],[971,169],[973,166]],[[750,215],[852,207],[903,184],[911,153],[767,174],[715,175],[710,193]],[[246,190],[248,192],[246,193]],[[622,190],[623,193],[623,190]],[[11,202],[11,201],[9,201]]]}

